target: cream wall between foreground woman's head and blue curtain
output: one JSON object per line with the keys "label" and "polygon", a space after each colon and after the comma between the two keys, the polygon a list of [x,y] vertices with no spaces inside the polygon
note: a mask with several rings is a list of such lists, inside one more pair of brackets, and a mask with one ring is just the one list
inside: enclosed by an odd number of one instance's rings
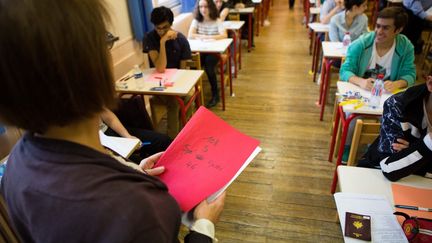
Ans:
{"label": "cream wall between foreground woman's head and blue curtain", "polygon": [[111,16],[108,30],[120,37],[111,49],[114,64],[114,78],[119,79],[135,64],[148,67],[148,57],[142,53],[142,44],[133,38],[126,0],[105,0]]}

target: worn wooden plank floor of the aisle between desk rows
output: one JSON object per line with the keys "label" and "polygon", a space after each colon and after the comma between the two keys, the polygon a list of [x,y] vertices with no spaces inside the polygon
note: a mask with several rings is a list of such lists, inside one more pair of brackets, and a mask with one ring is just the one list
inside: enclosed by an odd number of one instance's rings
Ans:
{"label": "worn wooden plank floor of the aisle between desk rows", "polygon": [[287,4],[274,0],[271,26],[254,51],[243,52],[235,97],[227,97],[226,111],[212,109],[263,148],[228,189],[219,242],[342,241],[330,194],[334,164],[326,161],[332,109],[320,122],[302,6],[289,11]]}

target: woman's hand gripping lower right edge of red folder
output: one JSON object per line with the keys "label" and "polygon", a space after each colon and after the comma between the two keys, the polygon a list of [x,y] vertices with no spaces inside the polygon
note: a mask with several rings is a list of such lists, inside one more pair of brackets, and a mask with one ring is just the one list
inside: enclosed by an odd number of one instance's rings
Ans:
{"label": "woman's hand gripping lower right edge of red folder", "polygon": [[194,219],[208,219],[216,224],[225,204],[225,192],[213,202],[202,201],[194,210]]}

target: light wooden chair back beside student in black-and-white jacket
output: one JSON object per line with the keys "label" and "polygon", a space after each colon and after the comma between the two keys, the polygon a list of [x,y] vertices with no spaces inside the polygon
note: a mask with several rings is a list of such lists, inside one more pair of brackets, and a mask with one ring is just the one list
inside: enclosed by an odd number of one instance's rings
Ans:
{"label": "light wooden chair back beside student in black-and-white jacket", "polygon": [[371,144],[378,137],[381,124],[375,120],[358,119],[354,128],[351,149],[348,157],[348,166],[357,164],[357,151],[359,145]]}

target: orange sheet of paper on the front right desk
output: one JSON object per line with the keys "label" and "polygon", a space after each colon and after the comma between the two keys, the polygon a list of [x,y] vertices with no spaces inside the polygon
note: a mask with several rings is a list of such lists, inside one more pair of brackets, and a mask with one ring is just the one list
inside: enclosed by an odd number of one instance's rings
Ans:
{"label": "orange sheet of paper on the front right desk", "polygon": [[[392,183],[392,191],[393,201],[395,204],[432,208],[432,189],[404,186]],[[418,216],[420,218],[432,219],[432,212],[409,210],[402,208],[396,208],[396,211],[404,212],[410,216]],[[399,222],[403,221],[402,217],[398,219]]]}

